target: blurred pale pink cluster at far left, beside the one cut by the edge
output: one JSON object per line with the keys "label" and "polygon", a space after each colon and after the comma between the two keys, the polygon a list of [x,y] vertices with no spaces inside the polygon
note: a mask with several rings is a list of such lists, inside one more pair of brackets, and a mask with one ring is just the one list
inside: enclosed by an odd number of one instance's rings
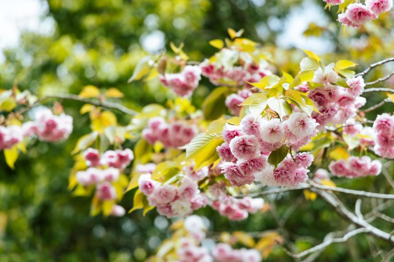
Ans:
{"label": "blurred pale pink cluster at far left, beside the one cut by the edge", "polygon": [[24,136],[35,134],[41,141],[61,141],[72,132],[72,117],[63,113],[54,115],[49,108],[39,108],[34,121],[24,123],[22,130]]}

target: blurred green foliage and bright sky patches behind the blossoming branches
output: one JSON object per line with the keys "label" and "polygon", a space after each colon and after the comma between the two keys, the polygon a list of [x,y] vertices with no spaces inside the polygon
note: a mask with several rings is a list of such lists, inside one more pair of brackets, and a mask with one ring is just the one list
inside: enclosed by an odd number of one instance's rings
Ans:
{"label": "blurred green foliage and bright sky patches behind the blossoming branches", "polygon": [[[17,83],[21,90],[45,95],[79,93],[93,84],[118,88],[125,93],[121,103],[136,110],[149,103],[164,105],[174,95],[158,81],[127,83],[138,60],[148,53],[171,52],[169,42],[184,42],[191,60],[201,61],[216,51],[208,41],[227,37],[228,27],[245,29],[243,36],[262,43],[278,69],[293,74],[304,56],[296,46],[318,53],[326,64],[353,60],[358,70],[393,56],[390,13],[360,30],[344,31],[335,22],[337,8],[324,6],[322,0],[0,0],[0,88]],[[390,70],[388,65],[369,77]],[[383,85],[392,86],[390,81]],[[201,106],[212,88],[204,79],[192,103]],[[366,107],[383,99],[374,94]],[[79,115],[81,103],[62,102],[65,112],[76,117],[67,141],[30,145],[27,154],[19,156],[16,170],[9,169],[0,154],[0,261],[144,261],[169,236],[171,220],[156,211],[146,217],[141,211],[121,218],[89,216],[90,199],[74,197],[67,189],[74,163],[70,152],[76,139],[89,132],[89,118]],[[368,117],[392,111],[388,104]],[[115,113],[124,125],[130,121]],[[336,184],[374,192],[387,187],[383,176]],[[133,194],[128,192],[121,203],[126,210],[132,207]],[[356,198],[342,199],[352,207]],[[348,225],[323,200],[306,201],[301,191],[266,200],[276,214],[286,216],[281,227],[288,240],[306,236],[295,243],[300,249]],[[365,200],[364,205],[371,203]],[[273,211],[243,222],[230,222],[209,207],[197,214],[210,220],[212,231],[278,228]],[[394,210],[386,214],[394,216]],[[384,220],[374,223],[386,231],[394,229]],[[378,239],[358,235],[347,244],[331,245],[318,261],[379,261],[376,253],[387,248]],[[279,247],[267,260],[293,261]]]}

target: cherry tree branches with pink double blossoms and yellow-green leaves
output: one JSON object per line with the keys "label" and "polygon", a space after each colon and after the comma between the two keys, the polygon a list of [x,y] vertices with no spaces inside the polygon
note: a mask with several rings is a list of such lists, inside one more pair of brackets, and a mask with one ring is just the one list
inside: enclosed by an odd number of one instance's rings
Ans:
{"label": "cherry tree branches with pink double blossoms and yellow-green leaves", "polygon": [[[365,6],[326,2],[347,8],[338,20],[356,28],[392,5],[380,0],[366,1]],[[229,29],[230,38],[211,40],[218,51],[202,62],[190,61],[183,45],[173,44],[174,55],[141,59],[129,82],[159,78],[177,95],[166,107],[149,104],[136,112],[108,101],[123,97],[118,89],[100,93],[95,86],[85,86],[78,95],[37,97],[20,92],[17,85],[0,93],[0,109],[7,112],[1,119],[0,149],[7,164],[15,168],[19,152],[25,152],[33,139],[57,142],[71,134],[72,117],[60,103],[46,108],[44,101],[81,101],[80,114],[89,115],[91,132],[80,137],[71,152],[72,194],[92,196],[92,216],[124,216],[119,201],[134,190],[129,212],[143,209],[145,215],[156,208],[167,218],[185,218],[174,222],[173,235],[152,261],[260,261],[275,245],[291,257],[308,256],[311,261],[330,244],[361,233],[393,244],[392,232],[372,225],[377,217],[392,222],[380,213],[394,199],[388,194],[392,188],[365,192],[336,187],[335,182],[336,177],[351,180],[383,173],[388,185],[394,186],[385,170],[387,159],[394,159],[394,116],[387,112],[376,119],[365,117],[366,112],[394,101],[390,88],[366,88],[388,80],[392,73],[364,81],[372,69],[394,58],[356,73],[349,69],[356,66],[350,60],[324,64],[318,55],[303,50],[306,56],[299,71],[291,75],[279,71],[269,53],[242,33]],[[197,109],[190,97],[203,78],[216,88]],[[362,95],[368,92],[386,92],[388,98],[361,109],[366,103]],[[119,125],[113,110],[130,115],[130,123]],[[126,140],[136,141],[133,150],[123,148]],[[319,197],[329,203],[349,221],[346,230],[332,232],[321,244],[295,253],[283,232],[209,232],[203,218],[192,215],[210,206],[229,220],[241,221],[273,208],[263,196],[297,190],[303,190],[305,201]],[[360,197],[354,212],[341,200],[348,195]],[[365,198],[384,201],[363,215]],[[204,246],[207,237],[216,241],[212,250]],[[236,248],[237,242],[243,247]]]}

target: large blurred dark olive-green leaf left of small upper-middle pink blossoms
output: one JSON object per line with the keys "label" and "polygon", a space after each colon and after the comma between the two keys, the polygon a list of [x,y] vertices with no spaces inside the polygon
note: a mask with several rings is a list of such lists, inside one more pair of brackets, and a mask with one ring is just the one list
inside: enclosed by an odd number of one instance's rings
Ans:
{"label": "large blurred dark olive-green leaf left of small upper-middle pink blossoms", "polygon": [[218,87],[205,98],[202,105],[204,119],[215,120],[226,112],[225,100],[228,91],[226,86]]}

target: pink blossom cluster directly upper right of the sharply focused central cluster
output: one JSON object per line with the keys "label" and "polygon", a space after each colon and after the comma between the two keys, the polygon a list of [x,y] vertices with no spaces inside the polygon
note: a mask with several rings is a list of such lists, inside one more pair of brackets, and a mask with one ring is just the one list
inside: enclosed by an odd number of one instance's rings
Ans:
{"label": "pink blossom cluster directly upper right of the sharply focused central cluster", "polygon": [[338,75],[332,68],[333,64],[328,65],[324,72],[321,68],[315,71],[313,82],[324,86],[314,88],[308,94],[321,113],[312,113],[312,118],[320,124],[319,130],[323,130],[325,125],[346,123],[366,103],[366,99],[360,96],[365,87],[364,79],[361,76],[347,79],[350,88],[337,86]]}

